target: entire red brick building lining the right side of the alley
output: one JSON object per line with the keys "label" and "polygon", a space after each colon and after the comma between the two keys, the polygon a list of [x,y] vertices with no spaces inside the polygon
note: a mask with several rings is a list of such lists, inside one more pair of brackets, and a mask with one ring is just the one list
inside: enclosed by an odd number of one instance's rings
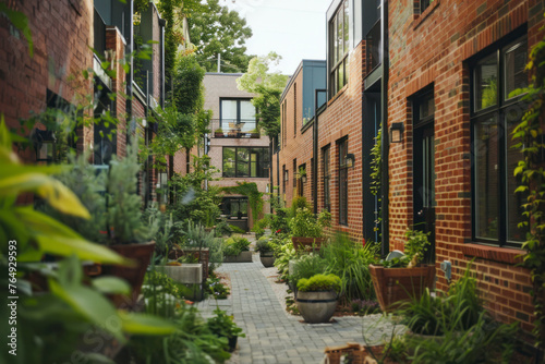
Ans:
{"label": "entire red brick building lining the right side of the alley", "polygon": [[[544,9],[535,0],[332,1],[317,137],[292,122],[301,109],[290,106],[301,102],[295,81],[284,93],[279,166],[288,171],[280,181],[288,205],[293,171],[316,155],[317,141],[317,198],[302,193],[317,211],[330,207],[334,229],[380,241],[384,255],[403,250],[408,228],[431,232],[426,260],[437,266],[438,289],[449,284],[440,263],[450,262],[456,280],[475,258],[487,308],[531,330],[532,283],[517,266],[525,238],[517,226],[522,197],[513,194],[520,154],[509,133],[524,112],[512,92],[528,85],[524,66],[543,37]],[[382,189],[374,196],[379,130]]]}

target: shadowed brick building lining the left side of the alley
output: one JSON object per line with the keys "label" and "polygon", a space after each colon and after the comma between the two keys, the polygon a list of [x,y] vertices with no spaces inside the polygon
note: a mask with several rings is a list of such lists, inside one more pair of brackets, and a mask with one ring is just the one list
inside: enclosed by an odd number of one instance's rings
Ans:
{"label": "shadowed brick building lining the left side of the alley", "polygon": [[[123,157],[129,137],[153,139],[157,124],[148,119],[165,101],[166,25],[154,2],[140,14],[136,25],[133,1],[11,1],[8,5],[27,16],[34,48],[31,56],[23,34],[8,17],[0,17],[0,111],[9,126],[46,109],[100,119],[75,126],[77,141],[68,143],[78,154],[92,150],[89,160],[97,168],[106,168],[113,155]],[[137,48],[135,35],[143,44],[154,41],[149,60],[130,56]],[[114,74],[102,70],[104,62],[109,62],[107,71]],[[86,76],[88,70],[94,72]],[[108,116],[121,122],[113,125]],[[56,160],[55,149],[46,147],[51,144],[46,142],[52,142],[47,129],[47,123],[37,122],[27,130],[34,148],[41,153],[27,150],[25,159]],[[110,139],[106,135],[113,130]],[[157,172],[153,159],[144,165],[138,193],[147,203],[156,199]]]}

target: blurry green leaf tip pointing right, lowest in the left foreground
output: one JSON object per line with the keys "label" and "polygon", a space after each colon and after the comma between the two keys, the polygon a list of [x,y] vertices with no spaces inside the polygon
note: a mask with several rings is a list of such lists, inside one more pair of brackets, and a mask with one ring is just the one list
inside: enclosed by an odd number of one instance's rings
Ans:
{"label": "blurry green leaf tip pointing right, lowest in the left foreground", "polygon": [[177,328],[171,323],[147,314],[134,314],[120,311],[123,331],[133,335],[166,336],[174,333]]}

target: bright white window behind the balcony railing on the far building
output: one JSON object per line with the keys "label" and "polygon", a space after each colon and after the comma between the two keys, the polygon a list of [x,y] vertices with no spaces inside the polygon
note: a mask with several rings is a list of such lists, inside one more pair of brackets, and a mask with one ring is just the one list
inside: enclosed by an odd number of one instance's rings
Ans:
{"label": "bright white window behind the balcony railing on the far building", "polygon": [[255,107],[250,99],[221,99],[220,116],[220,128],[227,133],[252,133],[257,128]]}

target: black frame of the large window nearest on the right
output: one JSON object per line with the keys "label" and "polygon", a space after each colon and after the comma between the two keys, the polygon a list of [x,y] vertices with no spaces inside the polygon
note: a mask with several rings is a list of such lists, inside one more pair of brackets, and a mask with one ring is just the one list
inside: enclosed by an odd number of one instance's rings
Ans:
{"label": "black frame of the large window nearest on the right", "polygon": [[[499,247],[514,247],[520,248],[523,241],[525,240],[523,232],[521,232],[522,236],[520,241],[509,240],[508,236],[508,216],[509,216],[509,192],[508,184],[509,178],[512,177],[513,171],[509,169],[508,166],[508,142],[511,141],[511,135],[508,132],[509,129],[509,117],[516,117],[516,119],[510,120],[513,123],[517,123],[516,120],[520,120],[524,111],[526,110],[526,106],[521,100],[522,95],[507,98],[504,93],[506,90],[506,81],[507,81],[507,69],[505,68],[505,56],[507,52],[518,49],[520,47],[524,47],[526,49],[526,57],[529,53],[528,49],[528,34],[525,26],[513,32],[511,35],[505,37],[504,39],[497,41],[493,46],[483,50],[479,54],[476,54],[473,59],[471,59],[468,63],[470,66],[470,109],[471,109],[471,233],[472,241],[479,244],[491,245],[491,246],[499,246]],[[475,73],[477,72],[477,66],[482,64],[481,62],[487,59],[494,59],[496,61],[496,105],[485,106],[483,108],[477,108],[477,83]],[[496,226],[497,230],[497,239],[496,238],[487,238],[480,236],[479,234],[479,220],[477,217],[477,198],[481,196],[477,192],[477,157],[479,157],[479,141],[477,137],[477,126],[482,125],[483,122],[487,120],[493,120],[495,118],[495,123],[492,124],[497,129],[497,165],[495,169],[497,169],[497,180],[498,180],[498,214],[497,221],[488,221],[488,229],[494,228]],[[488,149],[487,149],[488,150]],[[522,201],[523,197],[518,195],[517,198]],[[519,213],[521,214],[521,209],[519,206]],[[520,215],[519,214],[519,215]],[[521,216],[521,215],[520,215]],[[486,217],[489,220],[489,217]],[[520,220],[518,220],[520,221]],[[492,226],[492,228],[491,228]]]}

